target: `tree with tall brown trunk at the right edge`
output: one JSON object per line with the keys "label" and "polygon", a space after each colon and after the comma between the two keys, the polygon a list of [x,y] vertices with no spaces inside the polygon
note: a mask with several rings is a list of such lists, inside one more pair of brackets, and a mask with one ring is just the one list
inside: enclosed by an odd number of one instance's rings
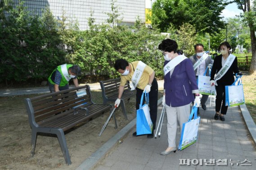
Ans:
{"label": "tree with tall brown trunk at the right edge", "polygon": [[249,69],[250,74],[256,74],[256,0],[233,0],[238,5],[238,9],[243,10],[243,16],[250,29],[251,46],[252,46],[252,61]]}

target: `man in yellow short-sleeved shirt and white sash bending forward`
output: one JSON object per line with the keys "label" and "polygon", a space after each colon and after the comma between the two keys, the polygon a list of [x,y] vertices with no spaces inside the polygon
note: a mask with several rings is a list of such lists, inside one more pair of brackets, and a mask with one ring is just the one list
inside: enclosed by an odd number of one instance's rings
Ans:
{"label": "man in yellow short-sleeved shirt and white sash bending forward", "polygon": [[[128,63],[124,59],[116,60],[114,68],[121,73],[121,82],[118,91],[118,98],[115,105],[119,106],[121,97],[124,92],[124,86],[127,81],[132,81],[133,86],[136,88],[136,110],[139,109],[140,99],[143,92],[149,93],[149,113],[153,123],[152,134],[148,134],[148,138],[154,137],[154,129],[156,128],[157,121],[157,99],[158,99],[158,84],[155,78],[155,71],[144,64],[142,61],[134,61]],[[137,136],[137,132],[133,133]]]}

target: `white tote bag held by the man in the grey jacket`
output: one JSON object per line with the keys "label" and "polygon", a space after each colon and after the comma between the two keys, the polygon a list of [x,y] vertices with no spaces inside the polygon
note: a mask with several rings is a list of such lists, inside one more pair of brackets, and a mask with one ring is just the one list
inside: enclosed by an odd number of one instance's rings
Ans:
{"label": "white tote bag held by the man in the grey jacket", "polygon": [[199,93],[202,95],[211,95],[214,92],[210,83],[211,77],[206,76],[207,70],[208,67],[203,75],[198,75],[198,89]]}

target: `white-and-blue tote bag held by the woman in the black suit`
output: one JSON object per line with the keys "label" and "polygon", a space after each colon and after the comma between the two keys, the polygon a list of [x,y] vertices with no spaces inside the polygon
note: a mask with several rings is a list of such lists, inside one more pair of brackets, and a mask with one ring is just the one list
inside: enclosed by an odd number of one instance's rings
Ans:
{"label": "white-and-blue tote bag held by the woman in the black suit", "polygon": [[230,86],[225,86],[225,99],[225,105],[229,107],[243,105],[245,103],[243,96],[242,75],[239,76],[236,74],[234,83]]}

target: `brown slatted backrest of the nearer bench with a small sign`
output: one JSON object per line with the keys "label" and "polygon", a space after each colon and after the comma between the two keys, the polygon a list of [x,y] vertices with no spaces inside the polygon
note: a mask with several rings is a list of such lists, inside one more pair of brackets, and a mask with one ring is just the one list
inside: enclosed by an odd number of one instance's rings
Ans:
{"label": "brown slatted backrest of the nearer bench with a small sign", "polygon": [[[84,90],[86,95],[78,97],[76,92]],[[30,125],[37,126],[48,119],[74,113],[74,107],[86,107],[92,104],[88,85],[49,93],[25,99]]]}

